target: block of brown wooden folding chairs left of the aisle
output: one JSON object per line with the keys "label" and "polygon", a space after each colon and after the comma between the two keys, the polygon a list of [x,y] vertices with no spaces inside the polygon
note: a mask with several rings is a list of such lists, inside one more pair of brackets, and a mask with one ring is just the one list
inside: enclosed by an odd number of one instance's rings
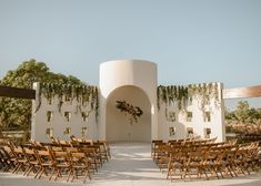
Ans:
{"label": "block of brown wooden folding chairs left of the aisle", "polygon": [[79,176],[83,176],[83,183],[86,183],[87,177],[91,179],[91,175],[109,161],[110,156],[103,149],[104,143],[69,144],[30,142],[17,146],[10,142],[1,143],[0,168],[13,174],[22,172],[24,176],[33,173],[34,178],[41,178],[44,174],[49,180],[66,176],[67,182],[70,179],[73,182]]}

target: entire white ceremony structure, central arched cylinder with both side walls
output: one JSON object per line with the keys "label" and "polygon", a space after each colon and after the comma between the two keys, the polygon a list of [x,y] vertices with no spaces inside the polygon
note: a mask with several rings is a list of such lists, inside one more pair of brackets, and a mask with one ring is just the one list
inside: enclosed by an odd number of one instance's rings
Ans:
{"label": "entire white ceremony structure, central arched cylinder with both side walls", "polygon": [[[149,61],[101,63],[97,111],[90,103],[79,102],[79,97],[67,100],[66,96],[54,95],[50,101],[41,93],[41,83],[34,83],[37,97],[32,101],[31,140],[50,142],[50,136],[53,136],[70,141],[70,136],[74,135],[108,142],[151,142],[191,136],[224,141],[222,84],[159,86],[157,73],[157,64]],[[208,102],[197,92],[207,85],[215,90],[215,95],[209,96]],[[187,97],[188,90],[194,90],[191,97]],[[207,89],[203,90],[208,93]],[[168,95],[170,91],[174,94]],[[174,100],[177,97],[179,100]],[[179,105],[179,101],[187,102]],[[119,102],[124,102],[128,111],[130,107],[134,111],[140,108],[142,114],[138,116],[120,110],[117,106]]]}

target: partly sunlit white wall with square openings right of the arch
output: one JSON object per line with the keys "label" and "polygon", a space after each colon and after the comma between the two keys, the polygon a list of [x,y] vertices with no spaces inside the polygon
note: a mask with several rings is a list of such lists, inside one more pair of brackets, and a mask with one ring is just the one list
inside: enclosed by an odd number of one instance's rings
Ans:
{"label": "partly sunlit white wall with square openings right of the arch", "polygon": [[[218,137],[218,142],[223,142],[225,140],[224,134],[224,120],[223,120],[223,101],[221,99],[221,90],[222,84],[218,83],[219,90],[219,100],[221,102],[217,105],[214,97],[210,100],[210,104],[205,105],[207,112],[210,112],[211,121],[204,122],[203,112],[200,106],[200,100],[193,97],[192,103],[188,105],[185,108],[188,112],[192,112],[192,120],[191,122],[187,121],[187,113],[185,111],[179,111],[177,105],[168,105],[161,104],[159,110],[159,136],[160,138],[168,141],[174,138],[187,138],[187,127],[193,128],[193,136],[200,136],[204,138],[204,128],[211,128],[210,138]],[[174,122],[168,121],[165,117],[165,112],[169,111],[175,112],[177,120]],[[170,136],[169,128],[174,127],[175,134]]]}

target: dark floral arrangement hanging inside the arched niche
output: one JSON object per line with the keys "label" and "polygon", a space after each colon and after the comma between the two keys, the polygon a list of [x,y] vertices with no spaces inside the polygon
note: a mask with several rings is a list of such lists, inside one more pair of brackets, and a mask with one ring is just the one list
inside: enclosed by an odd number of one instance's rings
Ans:
{"label": "dark floral arrangement hanging inside the arched niche", "polygon": [[130,124],[133,124],[133,121],[138,123],[138,117],[143,114],[143,111],[139,106],[133,106],[130,103],[123,101],[116,101],[116,107],[120,110],[120,112],[124,112],[130,116]]}

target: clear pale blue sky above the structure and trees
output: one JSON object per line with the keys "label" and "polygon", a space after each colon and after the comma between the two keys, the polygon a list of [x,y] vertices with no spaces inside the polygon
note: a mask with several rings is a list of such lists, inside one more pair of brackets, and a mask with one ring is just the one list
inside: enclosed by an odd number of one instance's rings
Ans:
{"label": "clear pale blue sky above the structure and trees", "polygon": [[158,63],[159,84],[261,84],[261,0],[0,0],[0,78],[21,62],[99,83],[99,64]]}

